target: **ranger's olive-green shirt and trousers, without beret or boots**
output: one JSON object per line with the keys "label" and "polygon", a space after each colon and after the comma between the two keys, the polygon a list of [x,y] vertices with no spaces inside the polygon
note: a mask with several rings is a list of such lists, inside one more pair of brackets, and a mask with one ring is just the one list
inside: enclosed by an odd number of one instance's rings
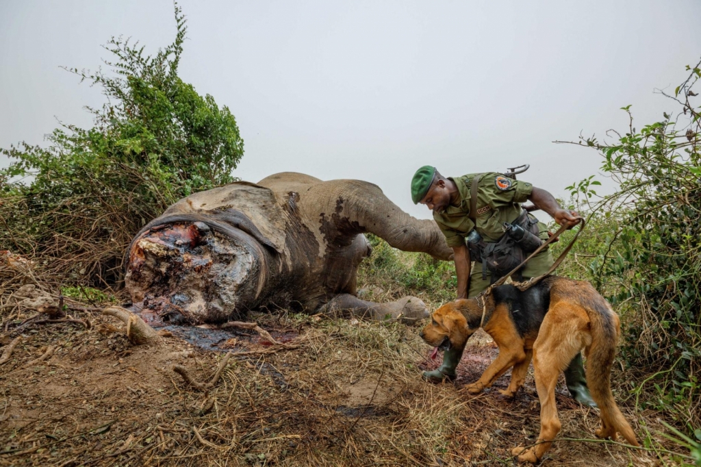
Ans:
{"label": "ranger's olive-green shirt and trousers, without beret or boots", "polygon": [[[449,177],[460,193],[460,205],[449,205],[444,212],[434,213],[433,219],[440,227],[449,247],[465,245],[465,236],[472,229],[482,236],[485,242],[496,242],[503,236],[504,222],[513,222],[521,215],[521,203],[528,200],[533,185],[521,180],[512,180],[495,172],[482,174],[477,184],[477,225],[470,219],[470,187],[472,179],[479,174],[470,173],[462,177]],[[547,240],[547,226],[538,222],[540,238]],[[531,258],[522,271],[524,278],[538,277],[552,266],[552,254],[545,249]],[[475,262],[470,271],[468,297],[475,297],[489,287],[491,273],[482,278],[482,263]]]}

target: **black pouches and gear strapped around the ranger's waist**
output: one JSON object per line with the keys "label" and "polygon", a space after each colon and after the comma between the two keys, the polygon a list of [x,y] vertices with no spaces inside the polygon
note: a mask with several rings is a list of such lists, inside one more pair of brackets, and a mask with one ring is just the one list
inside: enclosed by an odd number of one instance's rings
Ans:
{"label": "black pouches and gear strapped around the ranger's waist", "polygon": [[[526,210],[522,210],[515,221],[504,222],[503,226],[504,234],[496,242],[485,242],[476,229],[466,238],[470,259],[482,263],[482,280],[486,280],[486,271],[491,272],[492,284],[521,264],[529,253],[536,251],[543,244],[538,237],[538,219]],[[514,280],[523,280],[524,267],[512,275]]]}

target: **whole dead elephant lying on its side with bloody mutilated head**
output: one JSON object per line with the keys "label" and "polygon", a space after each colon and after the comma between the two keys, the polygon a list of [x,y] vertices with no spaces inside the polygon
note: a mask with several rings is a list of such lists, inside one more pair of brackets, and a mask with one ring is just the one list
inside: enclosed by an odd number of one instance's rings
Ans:
{"label": "whole dead elephant lying on its side with bloody mutilated head", "polygon": [[407,215],[360,180],[323,182],[283,172],[236,182],[170,206],[128,251],[132,302],[161,320],[220,323],[266,307],[383,319],[426,316],[414,297],[355,297],[371,232],[400,250],[449,259],[440,230]]}

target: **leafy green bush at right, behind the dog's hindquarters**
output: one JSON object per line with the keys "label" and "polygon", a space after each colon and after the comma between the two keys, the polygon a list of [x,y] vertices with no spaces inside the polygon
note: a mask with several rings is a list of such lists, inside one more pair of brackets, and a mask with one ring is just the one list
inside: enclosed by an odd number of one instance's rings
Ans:
{"label": "leafy green bush at right, behind the dog's hindquarters", "polygon": [[[622,312],[628,365],[650,375],[634,389],[636,400],[692,433],[701,419],[701,107],[692,104],[701,69],[687,69],[667,95],[676,113],[636,130],[623,107],[630,125],[610,134],[614,142],[576,143],[601,152],[602,170],[620,189],[590,203],[591,179],[569,188],[599,235],[574,251],[592,255],[587,277]],[[652,397],[641,400],[643,391]]]}

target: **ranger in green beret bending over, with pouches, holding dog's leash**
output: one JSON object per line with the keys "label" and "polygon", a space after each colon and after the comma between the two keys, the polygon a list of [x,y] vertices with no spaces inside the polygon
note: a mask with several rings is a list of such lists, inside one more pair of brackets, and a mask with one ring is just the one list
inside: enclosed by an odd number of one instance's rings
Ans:
{"label": "ranger in green beret bending over, with pouches, holding dog's leash", "polygon": [[[433,211],[433,219],[448,246],[453,248],[458,299],[478,295],[548,238],[545,224],[526,210],[543,210],[557,224],[570,228],[577,223],[577,213],[560,207],[552,194],[496,172],[444,177],[432,165],[424,165],[411,180],[411,200]],[[524,209],[521,203],[526,201],[533,205]],[[471,261],[474,261],[472,269]],[[552,254],[545,248],[512,275],[512,279],[540,276],[552,264]],[[462,351],[445,351],[443,364],[437,370],[423,372],[423,377],[434,382],[454,379],[461,357]],[[580,354],[564,374],[571,395],[595,407]]]}

